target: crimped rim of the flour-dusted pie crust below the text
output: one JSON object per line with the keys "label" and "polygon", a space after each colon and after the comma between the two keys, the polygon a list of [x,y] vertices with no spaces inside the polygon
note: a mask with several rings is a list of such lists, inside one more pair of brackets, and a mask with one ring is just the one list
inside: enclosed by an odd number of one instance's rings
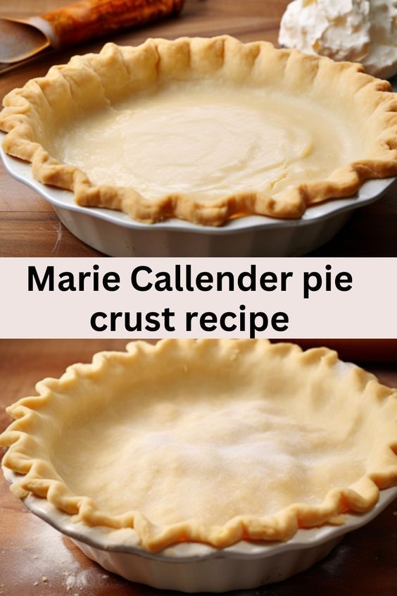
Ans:
{"label": "crimped rim of the flour-dusted pie crust below the text", "polygon": [[[40,417],[42,405],[54,399],[56,390],[73,390],[80,378],[106,373],[108,362],[127,363],[144,358],[145,354],[158,356],[162,352],[180,349],[195,350],[198,354],[213,348],[234,356],[236,350],[260,349],[263,358],[290,358],[299,366],[326,366],[332,368],[339,362],[336,352],[327,348],[313,348],[302,351],[296,344],[271,344],[267,340],[161,340],[156,345],[146,342],[132,342],[127,352],[99,352],[92,364],[69,366],[60,379],[47,378],[37,383],[39,395],[25,397],[7,408],[15,421],[0,435],[0,445],[8,447],[3,465],[23,477],[12,485],[11,490],[19,498],[30,492],[46,498],[61,511],[73,516],[73,521],[82,521],[88,526],[109,528],[134,528],[141,546],[150,552],[158,552],[177,542],[204,542],[213,547],[224,548],[239,540],[289,540],[298,528],[321,526],[333,523],[339,514],[346,511],[363,512],[372,509],[379,498],[379,490],[397,483],[397,391],[381,385],[374,375],[362,368],[354,367],[351,383],[369,392],[374,406],[379,409],[388,405],[391,418],[382,428],[382,442],[377,449],[377,461],[372,461],[372,472],[366,473],[352,488],[332,488],[322,504],[291,504],[271,516],[236,516],[223,526],[206,526],[199,521],[186,521],[169,526],[154,526],[139,511],[112,516],[100,511],[93,499],[77,497],[70,492],[56,473],[51,459],[44,461],[34,457],[34,422]],[[374,409],[370,412],[374,416]]]}

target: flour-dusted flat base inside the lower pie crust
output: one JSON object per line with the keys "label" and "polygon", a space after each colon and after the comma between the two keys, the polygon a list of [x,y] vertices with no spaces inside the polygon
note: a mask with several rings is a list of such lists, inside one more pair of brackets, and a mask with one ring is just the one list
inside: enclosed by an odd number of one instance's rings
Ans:
{"label": "flour-dusted flat base inside the lower pie crust", "polygon": [[216,385],[207,385],[210,399],[183,381],[157,397],[127,393],[89,423],[74,420],[52,448],[58,474],[109,514],[218,526],[320,504],[365,473],[370,446],[358,414],[341,425],[320,408],[305,421],[299,401],[239,384],[217,396]]}

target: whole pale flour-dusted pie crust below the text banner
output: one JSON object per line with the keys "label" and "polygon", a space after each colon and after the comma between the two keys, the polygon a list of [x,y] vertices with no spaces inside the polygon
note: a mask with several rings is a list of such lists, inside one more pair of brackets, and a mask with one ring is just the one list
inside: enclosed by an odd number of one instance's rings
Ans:
{"label": "whole pale flour-dusted pie crust below the text banner", "polygon": [[0,435],[15,495],[151,552],[289,540],[397,483],[396,390],[327,348],[133,342],[37,392]]}

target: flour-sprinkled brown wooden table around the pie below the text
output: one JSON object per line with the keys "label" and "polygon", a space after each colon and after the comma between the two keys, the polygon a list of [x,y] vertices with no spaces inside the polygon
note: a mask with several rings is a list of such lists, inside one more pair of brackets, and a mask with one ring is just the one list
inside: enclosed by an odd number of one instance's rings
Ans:
{"label": "flour-sprinkled brown wooden table around the pie below the text", "polygon": [[[124,344],[120,340],[1,341],[0,432],[10,421],[4,408],[19,397],[34,395],[37,380],[58,377],[68,364],[89,361],[100,349],[122,349]],[[397,386],[396,366],[367,368],[386,385]],[[396,539],[397,501],[367,526],[347,535],[312,569],[280,584],[237,592],[237,596],[393,596],[397,585]],[[162,593],[101,569],[68,538],[30,514],[0,479],[0,596]]]}

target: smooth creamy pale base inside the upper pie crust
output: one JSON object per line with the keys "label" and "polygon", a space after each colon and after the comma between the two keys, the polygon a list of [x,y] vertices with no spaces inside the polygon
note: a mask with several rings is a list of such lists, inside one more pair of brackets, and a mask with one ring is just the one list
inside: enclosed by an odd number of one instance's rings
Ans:
{"label": "smooth creamy pale base inside the upper pie crust", "polygon": [[360,147],[346,122],[307,98],[202,80],[84,116],[58,131],[53,152],[94,185],[213,200],[324,180],[354,159],[353,140]]}

